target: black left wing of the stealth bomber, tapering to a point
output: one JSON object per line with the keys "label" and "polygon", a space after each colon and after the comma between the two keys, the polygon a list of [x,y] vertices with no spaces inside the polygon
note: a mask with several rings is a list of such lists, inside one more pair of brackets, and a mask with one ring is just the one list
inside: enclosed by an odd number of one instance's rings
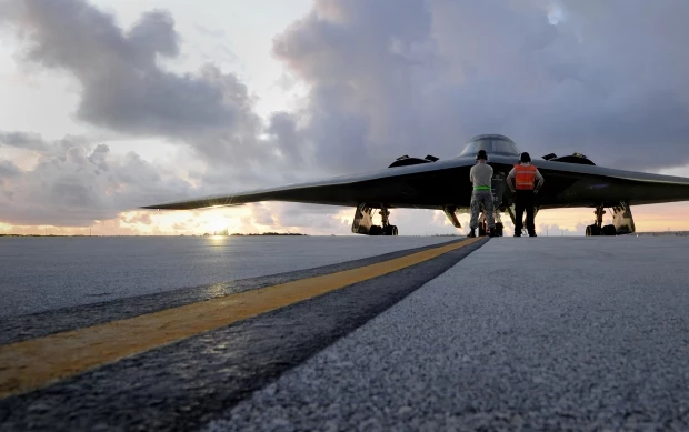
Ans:
{"label": "black left wing of the stealth bomber, tapering to a point", "polygon": [[143,209],[191,210],[209,207],[241,205],[260,201],[357,207],[441,209],[452,201],[469,205],[472,159],[453,159],[408,167],[387,168],[363,174],[257,189],[193,200],[146,205]]}

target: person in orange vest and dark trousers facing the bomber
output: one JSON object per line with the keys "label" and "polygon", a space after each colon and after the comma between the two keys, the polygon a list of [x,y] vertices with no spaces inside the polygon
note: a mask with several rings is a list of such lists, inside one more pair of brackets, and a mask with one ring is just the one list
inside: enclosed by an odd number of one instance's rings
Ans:
{"label": "person in orange vest and dark trousers facing the bomber", "polygon": [[[515,237],[521,237],[523,212],[527,211],[527,231],[529,237],[536,237],[533,223],[533,198],[543,185],[543,177],[538,168],[531,164],[531,157],[526,151],[519,155],[518,164],[507,175],[507,184],[515,195],[516,222]],[[538,185],[536,184],[538,180]]]}

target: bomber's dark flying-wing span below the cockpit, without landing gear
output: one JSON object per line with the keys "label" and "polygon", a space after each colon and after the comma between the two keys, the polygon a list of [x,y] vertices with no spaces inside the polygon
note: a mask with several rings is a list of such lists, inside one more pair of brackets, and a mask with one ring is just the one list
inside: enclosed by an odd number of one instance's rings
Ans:
{"label": "bomber's dark flying-wing span below the cockpit, without landing gear", "polygon": [[[468,208],[472,185],[469,170],[473,158],[445,161],[317,180],[284,187],[257,189],[193,200],[147,205],[144,209],[191,210],[209,207],[241,205],[260,201],[288,201],[312,204],[390,209]],[[507,178],[515,158],[492,157],[489,162],[496,177]],[[572,207],[616,207],[689,201],[689,179],[623,171],[598,165],[535,160],[546,179],[537,202],[540,209]],[[500,181],[498,181],[499,183]],[[493,182],[493,188],[496,182]],[[511,203],[507,184],[500,187],[502,207]]]}

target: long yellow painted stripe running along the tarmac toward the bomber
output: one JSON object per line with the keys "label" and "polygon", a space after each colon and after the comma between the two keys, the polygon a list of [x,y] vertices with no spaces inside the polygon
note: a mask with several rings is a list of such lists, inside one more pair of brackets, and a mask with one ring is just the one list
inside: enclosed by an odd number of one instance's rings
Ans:
{"label": "long yellow painted stripe running along the tarmac toward the bomber", "polygon": [[0,398],[26,393],[129,355],[378,278],[478,240],[3,345],[0,346]]}

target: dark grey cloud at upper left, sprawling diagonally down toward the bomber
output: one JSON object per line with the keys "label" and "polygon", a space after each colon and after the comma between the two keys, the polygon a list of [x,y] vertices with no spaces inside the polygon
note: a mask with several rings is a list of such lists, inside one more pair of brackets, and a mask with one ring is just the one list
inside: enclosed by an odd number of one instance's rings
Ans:
{"label": "dark grey cloud at upper left, sprawling diagonally down toward the bomber", "polygon": [[80,83],[79,120],[190,144],[212,162],[269,159],[257,139],[253,99],[234,74],[212,64],[178,74],[159,64],[180,51],[168,12],[147,12],[129,30],[83,0],[17,1],[11,17],[23,36],[23,60],[67,71]]}

